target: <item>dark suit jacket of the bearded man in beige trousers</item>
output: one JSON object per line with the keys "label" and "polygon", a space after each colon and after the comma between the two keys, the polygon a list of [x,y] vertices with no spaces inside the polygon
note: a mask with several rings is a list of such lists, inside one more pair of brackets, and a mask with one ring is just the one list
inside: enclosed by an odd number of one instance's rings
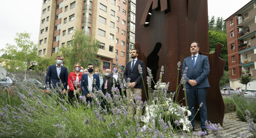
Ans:
{"label": "dark suit jacket of the bearded man in beige trousers", "polygon": [[[138,65],[142,67],[142,74],[139,73]],[[124,79],[127,82],[127,78],[130,78],[130,83],[136,82],[137,84],[134,86],[134,88],[143,88],[143,81],[142,79],[145,76],[145,64],[144,61],[141,61],[137,59],[133,69],[131,70],[132,67],[132,61],[126,63],[126,67],[124,70]],[[142,75],[142,76],[141,76]]]}

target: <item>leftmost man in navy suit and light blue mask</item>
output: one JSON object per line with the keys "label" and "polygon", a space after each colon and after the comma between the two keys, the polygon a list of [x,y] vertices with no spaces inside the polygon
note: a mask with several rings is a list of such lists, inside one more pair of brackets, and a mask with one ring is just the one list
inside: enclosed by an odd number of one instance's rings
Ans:
{"label": "leftmost man in navy suit and light blue mask", "polygon": [[[68,87],[68,69],[61,65],[64,57],[57,55],[55,57],[56,64],[48,67],[45,84],[49,83],[50,89],[55,89],[57,84],[62,87],[62,93],[66,93]],[[49,92],[49,89],[47,90]]]}

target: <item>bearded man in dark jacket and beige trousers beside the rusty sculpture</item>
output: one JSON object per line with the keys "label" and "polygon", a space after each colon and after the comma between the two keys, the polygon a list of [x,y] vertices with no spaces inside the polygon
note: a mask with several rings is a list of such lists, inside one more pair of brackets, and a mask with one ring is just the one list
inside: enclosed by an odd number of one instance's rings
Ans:
{"label": "bearded man in dark jacket and beige trousers beside the rusty sculpture", "polygon": [[[124,70],[124,79],[127,82],[127,79],[130,78],[130,86],[126,86],[126,94],[127,94],[127,102],[129,106],[128,112],[130,115],[133,115],[132,105],[131,105],[131,93],[134,95],[138,95],[137,97],[141,97],[141,91],[143,88],[143,77],[145,76],[145,64],[144,61],[141,61],[137,58],[139,55],[138,49],[132,49],[131,57],[132,61],[126,63],[126,68]],[[142,74],[139,73],[138,65],[142,67]],[[129,88],[130,87],[130,88]],[[132,99],[133,100],[133,99]],[[138,107],[138,105],[136,105]],[[141,110],[136,111],[137,115],[141,115]]]}

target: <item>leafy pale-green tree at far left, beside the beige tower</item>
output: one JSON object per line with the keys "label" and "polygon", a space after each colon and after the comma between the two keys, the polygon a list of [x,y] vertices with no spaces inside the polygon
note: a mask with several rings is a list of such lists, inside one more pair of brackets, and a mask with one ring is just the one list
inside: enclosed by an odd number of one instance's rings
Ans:
{"label": "leafy pale-green tree at far left, beside the beige tower", "polygon": [[16,73],[17,70],[26,72],[29,68],[29,61],[34,61],[37,57],[36,49],[38,45],[30,40],[30,34],[27,32],[16,33],[14,40],[16,45],[7,43],[6,48],[1,49],[2,52],[11,55],[10,60],[6,62],[6,69],[8,71],[14,71],[14,73]]}

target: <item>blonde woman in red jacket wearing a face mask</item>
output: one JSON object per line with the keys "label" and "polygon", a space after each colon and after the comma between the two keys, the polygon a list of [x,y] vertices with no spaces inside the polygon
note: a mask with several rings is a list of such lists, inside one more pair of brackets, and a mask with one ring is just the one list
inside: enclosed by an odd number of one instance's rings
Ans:
{"label": "blonde woman in red jacket wearing a face mask", "polygon": [[70,72],[68,75],[68,86],[69,86],[69,91],[68,91],[68,101],[72,104],[74,102],[74,97],[76,99],[79,99],[78,92],[80,91],[80,84],[81,84],[81,77],[82,74],[80,72],[81,65],[80,63],[75,63],[74,65],[74,72]]}

